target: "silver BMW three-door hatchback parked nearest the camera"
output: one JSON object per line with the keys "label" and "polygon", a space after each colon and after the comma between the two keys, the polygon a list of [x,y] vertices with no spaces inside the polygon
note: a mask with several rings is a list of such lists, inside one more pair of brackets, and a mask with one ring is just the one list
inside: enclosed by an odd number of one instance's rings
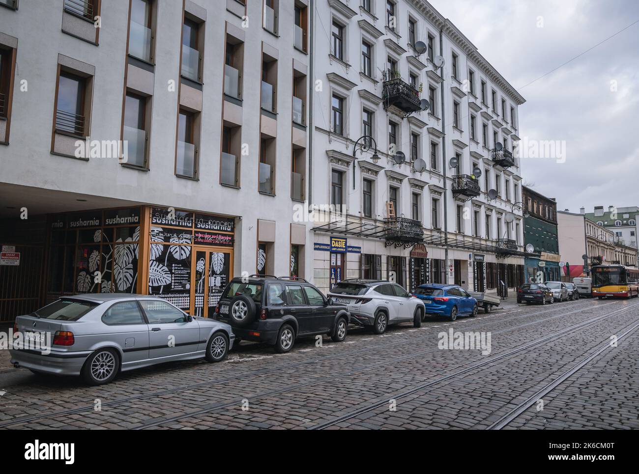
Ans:
{"label": "silver BMW three-door hatchback parked nearest the camera", "polygon": [[173,360],[223,360],[235,335],[231,326],[193,317],[153,296],[125,293],[60,298],[14,329],[25,337],[50,334],[49,355],[12,349],[11,362],[35,373],[79,376],[89,385],[112,381],[118,372]]}

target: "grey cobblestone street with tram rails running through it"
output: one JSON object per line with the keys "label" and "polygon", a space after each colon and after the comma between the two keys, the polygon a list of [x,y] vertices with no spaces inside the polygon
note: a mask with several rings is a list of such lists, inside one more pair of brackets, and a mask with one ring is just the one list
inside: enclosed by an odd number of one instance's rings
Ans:
{"label": "grey cobblestone street with tram rails running through it", "polygon": [[[449,329],[489,334],[489,353],[440,349]],[[343,343],[298,340],[285,355],[242,343],[222,363],[166,363],[98,387],[4,368],[0,427],[636,429],[638,334],[637,300],[581,299],[381,336],[351,328]]]}

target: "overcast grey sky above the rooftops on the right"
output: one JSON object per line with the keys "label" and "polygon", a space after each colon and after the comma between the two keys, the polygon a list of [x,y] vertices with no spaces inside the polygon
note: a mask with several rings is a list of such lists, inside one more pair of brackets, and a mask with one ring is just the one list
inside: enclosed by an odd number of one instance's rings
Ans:
{"label": "overcast grey sky above the rooftops on the right", "polygon": [[566,142],[564,163],[521,160],[525,184],[559,210],[639,206],[639,22],[561,66],[639,20],[638,1],[429,1],[527,100],[522,142]]}

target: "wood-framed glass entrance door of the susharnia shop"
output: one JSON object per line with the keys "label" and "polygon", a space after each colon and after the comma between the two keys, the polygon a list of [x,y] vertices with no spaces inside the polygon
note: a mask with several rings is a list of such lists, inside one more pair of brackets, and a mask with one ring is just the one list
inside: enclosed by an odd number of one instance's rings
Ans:
{"label": "wood-framed glass entrance door of the susharnia shop", "polygon": [[195,271],[191,274],[190,314],[211,317],[233,278],[233,252],[223,247],[193,247],[191,268]]}

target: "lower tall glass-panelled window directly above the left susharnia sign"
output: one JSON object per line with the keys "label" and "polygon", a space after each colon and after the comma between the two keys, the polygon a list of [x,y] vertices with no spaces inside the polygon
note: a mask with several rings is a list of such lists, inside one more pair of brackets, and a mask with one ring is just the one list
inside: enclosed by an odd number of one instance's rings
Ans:
{"label": "lower tall glass-panelled window directly above the left susharnia sign", "polygon": [[146,168],[146,97],[127,92],[124,105],[124,162]]}

